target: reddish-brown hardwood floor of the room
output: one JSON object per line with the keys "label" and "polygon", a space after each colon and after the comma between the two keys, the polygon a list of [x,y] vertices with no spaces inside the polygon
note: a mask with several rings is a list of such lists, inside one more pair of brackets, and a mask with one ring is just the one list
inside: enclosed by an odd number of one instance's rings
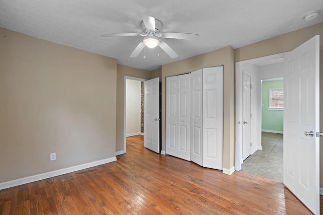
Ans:
{"label": "reddish-brown hardwood floor of the room", "polygon": [[118,161],[0,190],[0,214],[311,214],[283,183],[231,176],[143,148]]}

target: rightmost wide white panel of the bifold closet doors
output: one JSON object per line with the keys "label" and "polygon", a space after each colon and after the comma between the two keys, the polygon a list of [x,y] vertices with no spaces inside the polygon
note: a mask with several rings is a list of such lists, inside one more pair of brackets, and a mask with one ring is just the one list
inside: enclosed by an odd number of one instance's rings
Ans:
{"label": "rightmost wide white panel of the bifold closet doors", "polygon": [[223,169],[223,66],[203,68],[203,167]]}

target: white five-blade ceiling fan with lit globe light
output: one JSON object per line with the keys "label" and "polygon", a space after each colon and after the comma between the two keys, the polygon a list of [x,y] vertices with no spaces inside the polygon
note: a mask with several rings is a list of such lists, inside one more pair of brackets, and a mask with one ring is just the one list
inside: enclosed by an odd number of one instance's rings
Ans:
{"label": "white five-blade ceiling fan with lit globe light", "polygon": [[114,36],[137,36],[144,37],[142,42],[138,44],[130,57],[137,57],[142,49],[147,46],[154,48],[159,46],[163,49],[171,58],[178,57],[178,54],[163,40],[160,38],[173,38],[184,40],[198,40],[198,34],[189,33],[174,33],[174,32],[161,32],[161,22],[150,16],[144,16],[141,22],[142,33],[117,33],[117,34],[102,34],[101,37],[114,37]]}

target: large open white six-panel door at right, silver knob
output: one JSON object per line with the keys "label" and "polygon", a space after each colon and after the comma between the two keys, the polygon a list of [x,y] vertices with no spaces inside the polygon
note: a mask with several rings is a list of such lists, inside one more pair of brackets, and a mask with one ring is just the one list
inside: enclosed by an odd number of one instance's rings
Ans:
{"label": "large open white six-panel door at right, silver knob", "polygon": [[286,54],[284,66],[284,184],[319,214],[319,36]]}

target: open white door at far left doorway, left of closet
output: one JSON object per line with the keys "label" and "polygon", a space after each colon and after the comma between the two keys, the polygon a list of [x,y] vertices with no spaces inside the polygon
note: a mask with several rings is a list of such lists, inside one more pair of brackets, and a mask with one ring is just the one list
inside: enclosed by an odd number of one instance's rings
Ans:
{"label": "open white door at far left doorway, left of closet", "polygon": [[144,147],[159,153],[159,78],[144,82]]}

